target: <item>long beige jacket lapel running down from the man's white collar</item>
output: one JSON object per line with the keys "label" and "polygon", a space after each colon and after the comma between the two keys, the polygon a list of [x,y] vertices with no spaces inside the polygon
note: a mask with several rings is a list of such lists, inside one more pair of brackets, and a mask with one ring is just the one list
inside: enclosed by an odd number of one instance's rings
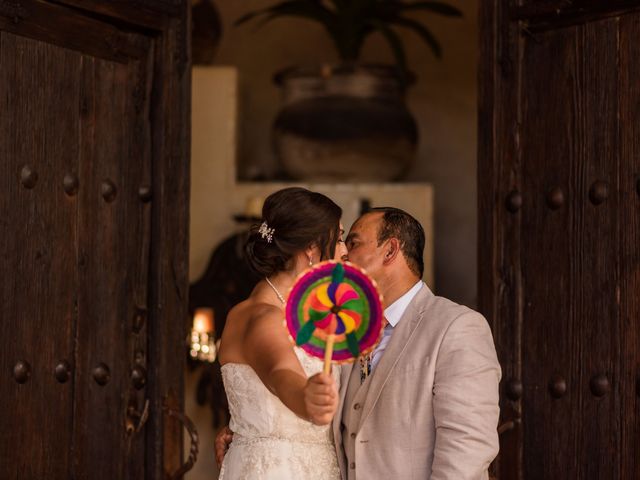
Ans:
{"label": "long beige jacket lapel running down from the man's white collar", "polygon": [[391,372],[407,348],[411,337],[422,322],[422,311],[424,309],[425,300],[432,295],[433,294],[429,288],[426,285],[423,285],[413,300],[411,300],[411,303],[407,306],[407,309],[402,315],[400,321],[394,328],[391,340],[389,340],[389,344],[382,354],[380,362],[376,365],[373,375],[371,375],[371,378],[369,379],[371,384],[369,385],[369,391],[367,392],[367,396],[364,401],[359,427],[362,426],[371,413],[371,410],[380,397],[382,388],[387,383]]}

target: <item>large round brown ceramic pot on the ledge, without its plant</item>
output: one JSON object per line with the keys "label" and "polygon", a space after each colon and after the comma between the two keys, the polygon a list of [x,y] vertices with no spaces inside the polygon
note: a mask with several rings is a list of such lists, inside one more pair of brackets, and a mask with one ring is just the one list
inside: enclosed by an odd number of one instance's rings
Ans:
{"label": "large round brown ceramic pot on the ledge, without its plant", "polygon": [[390,66],[291,68],[276,75],[283,107],[274,126],[287,175],[313,181],[398,180],[416,151],[406,78]]}

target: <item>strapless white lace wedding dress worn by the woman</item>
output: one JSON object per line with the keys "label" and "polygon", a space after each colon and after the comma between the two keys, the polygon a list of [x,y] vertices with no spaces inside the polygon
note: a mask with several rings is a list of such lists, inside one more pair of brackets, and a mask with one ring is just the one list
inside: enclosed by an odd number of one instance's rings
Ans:
{"label": "strapless white lace wedding dress worn by the woman", "polygon": [[[322,371],[321,360],[294,350],[307,376]],[[339,387],[339,367],[333,367],[333,376]],[[319,427],[296,416],[248,365],[223,365],[222,379],[234,434],[220,479],[340,479],[331,425]]]}

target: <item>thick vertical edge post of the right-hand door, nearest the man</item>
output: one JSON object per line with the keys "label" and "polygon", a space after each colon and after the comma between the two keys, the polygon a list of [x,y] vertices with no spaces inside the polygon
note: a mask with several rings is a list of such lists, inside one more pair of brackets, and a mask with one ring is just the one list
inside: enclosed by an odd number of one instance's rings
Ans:
{"label": "thick vertical edge post of the right-hand door, nearest the man", "polygon": [[[492,1],[480,9],[479,135],[478,135],[478,294],[480,311],[491,324],[498,359],[501,454],[493,472],[519,479],[522,459],[522,406],[506,395],[521,379],[522,297],[520,273],[520,215],[507,209],[507,198],[521,191],[518,169],[517,26],[509,22],[505,2]],[[508,321],[506,321],[508,319]],[[513,422],[513,423],[511,423]],[[509,472],[509,476],[504,476]]]}

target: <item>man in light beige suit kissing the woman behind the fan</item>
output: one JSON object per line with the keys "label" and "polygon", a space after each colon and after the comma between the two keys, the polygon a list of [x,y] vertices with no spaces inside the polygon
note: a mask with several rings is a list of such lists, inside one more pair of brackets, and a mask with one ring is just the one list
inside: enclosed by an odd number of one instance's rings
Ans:
{"label": "man in light beige suit kissing the woman behind the fan", "polygon": [[[347,237],[348,260],[376,280],[383,338],[342,369],[333,421],[345,480],[482,480],[498,452],[500,366],[477,312],[422,282],[424,231],[406,212],[373,209]],[[221,460],[228,437],[219,434]]]}

